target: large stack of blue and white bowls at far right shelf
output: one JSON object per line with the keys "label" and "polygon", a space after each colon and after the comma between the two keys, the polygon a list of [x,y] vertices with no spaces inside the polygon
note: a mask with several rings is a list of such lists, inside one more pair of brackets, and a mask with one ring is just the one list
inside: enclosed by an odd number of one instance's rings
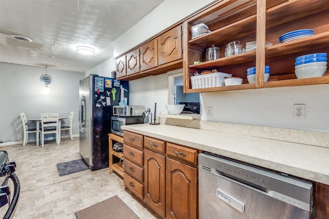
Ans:
{"label": "large stack of blue and white bowls at far right shelf", "polygon": [[313,53],[295,59],[295,74],[299,78],[321,77],[327,70],[327,53]]}

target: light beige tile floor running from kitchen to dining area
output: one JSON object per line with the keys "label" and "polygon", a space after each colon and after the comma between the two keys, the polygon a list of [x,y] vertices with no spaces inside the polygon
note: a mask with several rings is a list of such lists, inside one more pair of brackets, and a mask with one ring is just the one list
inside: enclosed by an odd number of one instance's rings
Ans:
{"label": "light beige tile floor running from kitchen to dining area", "polygon": [[15,173],[21,183],[14,218],[76,218],[75,212],[115,195],[141,219],[157,218],[148,206],[124,188],[122,178],[109,174],[108,168],[58,175],[56,164],[81,158],[79,137],[73,141],[64,138],[59,146],[49,141],[42,148],[34,142],[24,147],[3,146],[0,150],[6,150],[10,161],[16,162]]}

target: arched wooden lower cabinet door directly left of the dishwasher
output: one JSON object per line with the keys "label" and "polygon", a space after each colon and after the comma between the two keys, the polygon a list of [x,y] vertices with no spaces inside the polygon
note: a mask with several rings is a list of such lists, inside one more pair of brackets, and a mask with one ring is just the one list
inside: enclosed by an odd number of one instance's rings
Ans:
{"label": "arched wooden lower cabinet door directly left of the dishwasher", "polygon": [[166,218],[197,218],[197,169],[167,158]]}

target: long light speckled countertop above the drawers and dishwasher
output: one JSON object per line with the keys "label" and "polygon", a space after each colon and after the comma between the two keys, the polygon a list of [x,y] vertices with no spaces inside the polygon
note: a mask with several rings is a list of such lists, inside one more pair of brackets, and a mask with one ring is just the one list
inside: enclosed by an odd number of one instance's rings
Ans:
{"label": "long light speckled countertop above the drawers and dishwasher", "polygon": [[327,147],[167,124],[122,129],[329,185]]}

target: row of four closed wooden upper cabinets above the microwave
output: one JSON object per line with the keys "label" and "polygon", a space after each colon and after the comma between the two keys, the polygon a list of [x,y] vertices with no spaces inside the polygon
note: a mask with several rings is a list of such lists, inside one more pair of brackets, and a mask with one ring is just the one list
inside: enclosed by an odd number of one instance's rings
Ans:
{"label": "row of four closed wooden upper cabinets above the microwave", "polygon": [[[126,74],[120,72],[123,57],[126,58]],[[117,59],[117,78],[124,80],[182,68],[182,25],[156,36],[120,58]]]}

